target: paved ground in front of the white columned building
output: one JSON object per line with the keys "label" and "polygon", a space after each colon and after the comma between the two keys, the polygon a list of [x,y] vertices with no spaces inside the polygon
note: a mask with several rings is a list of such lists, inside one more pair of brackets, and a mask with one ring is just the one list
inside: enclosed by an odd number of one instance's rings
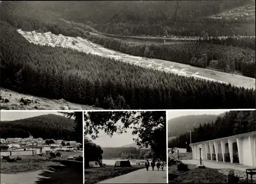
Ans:
{"label": "paved ground in front of the white columned building", "polygon": [[[181,160],[182,163],[184,164],[199,164],[199,160]],[[211,162],[211,161],[203,161],[203,164],[205,167],[212,168],[212,169],[218,169],[220,173],[223,173],[225,175],[228,175],[230,169],[233,169],[234,174],[238,175],[240,179],[245,179],[246,180],[246,169],[252,169],[254,167],[250,166],[244,166],[244,165],[239,165],[239,164],[230,164],[230,163],[217,163],[217,162]],[[250,175],[248,175],[248,181],[250,182]],[[256,175],[253,175],[252,179],[254,182],[256,182]]]}

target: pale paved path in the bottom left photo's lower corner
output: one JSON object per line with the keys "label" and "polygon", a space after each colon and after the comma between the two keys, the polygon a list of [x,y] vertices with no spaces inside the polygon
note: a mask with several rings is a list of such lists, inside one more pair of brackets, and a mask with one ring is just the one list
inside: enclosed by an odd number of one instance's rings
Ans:
{"label": "pale paved path in the bottom left photo's lower corner", "polygon": [[1,184],[35,184],[39,178],[47,178],[40,176],[44,170],[19,173],[19,174],[1,174]]}

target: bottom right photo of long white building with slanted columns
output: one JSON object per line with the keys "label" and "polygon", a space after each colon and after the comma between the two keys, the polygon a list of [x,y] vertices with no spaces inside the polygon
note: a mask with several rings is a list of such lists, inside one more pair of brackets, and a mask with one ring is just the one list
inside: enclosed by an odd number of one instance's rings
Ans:
{"label": "bottom right photo of long white building with slanted columns", "polygon": [[255,183],[255,110],[169,110],[168,183]]}

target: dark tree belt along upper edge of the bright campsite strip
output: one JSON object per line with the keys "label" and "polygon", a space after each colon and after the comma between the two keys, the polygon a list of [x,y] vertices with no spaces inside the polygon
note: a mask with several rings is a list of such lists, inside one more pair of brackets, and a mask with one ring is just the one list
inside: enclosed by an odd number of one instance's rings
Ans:
{"label": "dark tree belt along upper edge of the bright campsite strip", "polygon": [[105,48],[126,54],[174,61],[197,67],[209,66],[228,73],[234,73],[235,70],[238,70],[244,76],[255,77],[255,51],[248,48],[204,42],[133,45],[101,35],[90,35],[86,38],[104,45]]}

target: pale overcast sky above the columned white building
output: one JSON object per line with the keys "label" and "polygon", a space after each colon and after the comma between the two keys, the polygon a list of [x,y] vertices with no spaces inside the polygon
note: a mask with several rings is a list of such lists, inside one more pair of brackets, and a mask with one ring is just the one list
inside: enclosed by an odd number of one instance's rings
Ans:
{"label": "pale overcast sky above the columned white building", "polygon": [[167,120],[181,117],[181,116],[187,116],[187,115],[200,115],[200,114],[221,114],[223,112],[226,112],[228,110],[178,110],[178,111],[172,111],[167,110]]}

